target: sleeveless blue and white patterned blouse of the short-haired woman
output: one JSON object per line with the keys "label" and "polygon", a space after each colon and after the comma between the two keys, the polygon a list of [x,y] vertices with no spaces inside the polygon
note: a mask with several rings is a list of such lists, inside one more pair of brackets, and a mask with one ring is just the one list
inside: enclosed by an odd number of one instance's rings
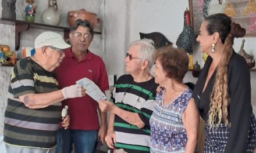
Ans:
{"label": "sleeveless blue and white patterned blouse of the short-haired woman", "polygon": [[157,93],[156,104],[150,118],[150,152],[185,152],[187,133],[182,123],[182,113],[192,96],[187,88],[172,103],[163,106],[163,93]]}

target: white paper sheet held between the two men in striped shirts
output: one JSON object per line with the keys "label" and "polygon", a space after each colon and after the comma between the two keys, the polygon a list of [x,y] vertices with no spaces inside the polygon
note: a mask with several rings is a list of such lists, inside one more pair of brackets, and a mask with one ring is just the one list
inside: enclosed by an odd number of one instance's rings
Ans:
{"label": "white paper sheet held between the two men in striped shirts", "polygon": [[106,100],[106,96],[101,92],[101,89],[90,79],[83,78],[79,81],[76,81],[77,84],[83,86],[86,89],[86,93],[93,98],[95,101],[99,102],[99,100]]}

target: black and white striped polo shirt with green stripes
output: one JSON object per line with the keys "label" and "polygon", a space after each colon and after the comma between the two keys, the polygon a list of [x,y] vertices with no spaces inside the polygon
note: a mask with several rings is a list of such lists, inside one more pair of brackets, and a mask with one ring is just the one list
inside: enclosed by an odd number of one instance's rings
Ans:
{"label": "black and white striped polo shirt with green stripes", "polygon": [[147,82],[134,82],[131,75],[123,75],[118,79],[111,101],[125,111],[136,112],[145,123],[144,128],[130,125],[115,115],[114,130],[116,134],[115,148],[123,148],[126,152],[150,152],[150,116],[155,105],[157,89],[155,79]]}

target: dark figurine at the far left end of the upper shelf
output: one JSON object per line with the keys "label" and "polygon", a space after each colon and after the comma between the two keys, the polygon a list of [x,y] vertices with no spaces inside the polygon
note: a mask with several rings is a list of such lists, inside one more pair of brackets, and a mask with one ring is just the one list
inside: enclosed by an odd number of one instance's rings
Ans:
{"label": "dark figurine at the far left end of the upper shelf", "polygon": [[16,20],[16,0],[2,0],[2,18]]}

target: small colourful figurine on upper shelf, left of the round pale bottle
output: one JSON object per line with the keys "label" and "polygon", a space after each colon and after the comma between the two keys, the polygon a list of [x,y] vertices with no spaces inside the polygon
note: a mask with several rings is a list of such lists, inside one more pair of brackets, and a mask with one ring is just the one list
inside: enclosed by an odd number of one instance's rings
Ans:
{"label": "small colourful figurine on upper shelf, left of the round pale bottle", "polygon": [[35,21],[35,9],[37,7],[33,5],[34,0],[26,0],[26,3],[28,3],[28,5],[25,8],[25,12],[26,12],[25,20],[29,21],[29,22],[34,22]]}

